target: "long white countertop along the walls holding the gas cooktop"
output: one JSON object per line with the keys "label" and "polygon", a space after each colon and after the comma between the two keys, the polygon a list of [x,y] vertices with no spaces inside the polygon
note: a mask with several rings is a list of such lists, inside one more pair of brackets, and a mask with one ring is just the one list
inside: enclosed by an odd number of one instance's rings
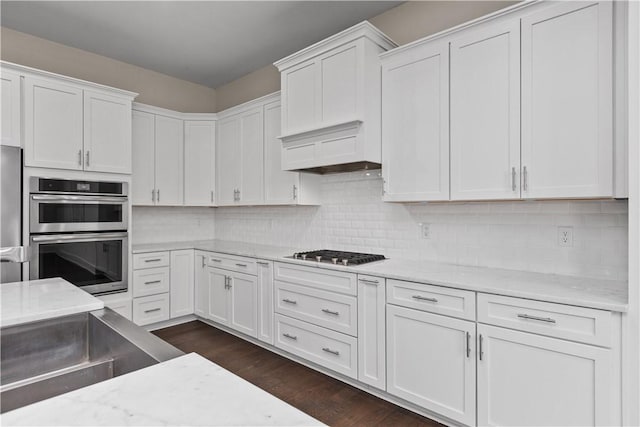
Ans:
{"label": "long white countertop along the walls holding the gas cooktop", "polygon": [[628,283],[622,280],[592,279],[405,259],[387,259],[360,266],[345,267],[286,258],[299,249],[226,240],[133,245],[134,254],[178,249],[198,249],[247,256],[602,310],[626,312],[628,306]]}

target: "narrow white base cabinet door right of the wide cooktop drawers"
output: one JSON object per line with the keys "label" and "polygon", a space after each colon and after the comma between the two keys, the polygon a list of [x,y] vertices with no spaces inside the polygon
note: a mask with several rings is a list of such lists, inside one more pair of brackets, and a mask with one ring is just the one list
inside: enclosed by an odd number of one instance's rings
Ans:
{"label": "narrow white base cabinet door right of the wide cooktop drawers", "polygon": [[358,380],[386,389],[385,279],[358,275]]}

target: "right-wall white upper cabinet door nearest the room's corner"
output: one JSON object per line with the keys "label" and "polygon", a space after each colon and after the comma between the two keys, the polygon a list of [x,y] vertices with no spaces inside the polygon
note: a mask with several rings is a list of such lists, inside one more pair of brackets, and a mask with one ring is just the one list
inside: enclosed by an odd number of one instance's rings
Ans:
{"label": "right-wall white upper cabinet door nearest the room's corner", "polygon": [[242,150],[240,140],[240,118],[229,117],[218,122],[216,143],[216,183],[218,206],[237,203],[236,192],[240,188]]}

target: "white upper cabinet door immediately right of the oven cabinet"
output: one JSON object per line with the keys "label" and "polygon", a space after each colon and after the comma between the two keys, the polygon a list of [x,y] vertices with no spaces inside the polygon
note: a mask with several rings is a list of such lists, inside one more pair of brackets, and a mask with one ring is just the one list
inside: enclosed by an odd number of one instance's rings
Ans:
{"label": "white upper cabinet door immediately right of the oven cabinet", "polygon": [[155,115],[133,111],[131,202],[134,205],[151,205],[155,201],[155,123]]}

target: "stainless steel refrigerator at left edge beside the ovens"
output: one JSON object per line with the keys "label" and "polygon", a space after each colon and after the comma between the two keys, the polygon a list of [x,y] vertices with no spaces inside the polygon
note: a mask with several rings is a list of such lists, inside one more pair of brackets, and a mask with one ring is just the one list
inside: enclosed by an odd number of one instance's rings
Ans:
{"label": "stainless steel refrigerator at left edge beside the ovens", "polygon": [[22,150],[1,146],[0,283],[22,280],[27,248],[22,246]]}

